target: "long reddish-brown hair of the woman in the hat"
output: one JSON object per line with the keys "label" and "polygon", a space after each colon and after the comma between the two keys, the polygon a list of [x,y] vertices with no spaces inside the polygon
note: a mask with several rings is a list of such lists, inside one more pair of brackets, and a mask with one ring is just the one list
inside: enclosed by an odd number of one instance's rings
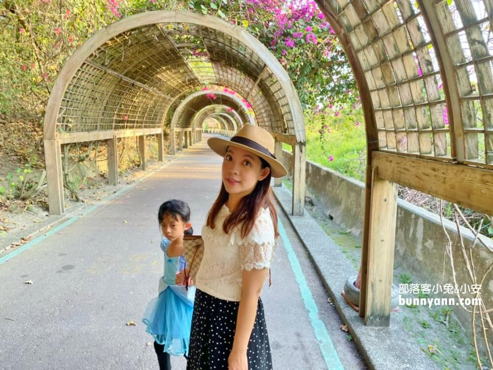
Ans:
{"label": "long reddish-brown hair of the woman in the hat", "polygon": [[[270,168],[269,164],[264,159],[260,158],[260,160],[262,161],[262,169],[266,167]],[[270,184],[271,173],[269,172],[269,175],[267,175],[264,180],[258,181],[253,191],[250,194],[244,196],[240,200],[240,203],[238,203],[236,208],[233,210],[231,215],[229,215],[226,220],[224,220],[222,228],[226,234],[229,233],[229,231],[234,226],[242,224],[241,235],[244,238],[253,228],[253,225],[255,224],[255,219],[260,212],[260,208],[269,207],[272,222],[274,224],[274,233],[276,237],[279,235],[277,225],[277,212],[276,207],[274,206]],[[222,184],[219,195],[217,196],[217,199],[212,205],[212,208],[207,216],[207,226],[212,229],[215,227],[215,218],[224,203],[227,202],[228,198],[229,193],[226,191],[224,184]]]}

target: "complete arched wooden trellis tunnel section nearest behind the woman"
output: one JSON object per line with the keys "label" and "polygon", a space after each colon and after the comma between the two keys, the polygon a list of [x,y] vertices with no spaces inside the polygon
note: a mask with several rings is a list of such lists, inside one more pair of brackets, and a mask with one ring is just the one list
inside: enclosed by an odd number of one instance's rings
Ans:
{"label": "complete arched wooden trellis tunnel section nearest behind the woman", "polygon": [[[293,146],[293,213],[302,214],[306,137],[289,76],[242,28],[181,11],[122,19],[93,35],[67,60],[44,121],[50,214],[65,210],[62,144],[106,140],[109,178],[116,183],[117,139],[139,136],[144,167],[145,136],[157,135],[162,160],[166,113],[179,99],[186,100],[190,92],[205,86],[226,87],[229,98],[234,93],[243,96],[255,112],[256,124],[275,137],[276,148],[282,148],[282,142]],[[170,141],[174,139],[170,135]]]}

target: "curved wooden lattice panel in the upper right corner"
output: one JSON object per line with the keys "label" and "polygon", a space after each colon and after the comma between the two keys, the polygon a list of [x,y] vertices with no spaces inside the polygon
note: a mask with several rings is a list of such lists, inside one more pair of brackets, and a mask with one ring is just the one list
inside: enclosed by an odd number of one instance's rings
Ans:
{"label": "curved wooden lattice panel in the upper right corner", "polygon": [[[492,0],[318,3],[357,55],[380,150],[493,165]],[[455,72],[445,83],[448,60]]]}

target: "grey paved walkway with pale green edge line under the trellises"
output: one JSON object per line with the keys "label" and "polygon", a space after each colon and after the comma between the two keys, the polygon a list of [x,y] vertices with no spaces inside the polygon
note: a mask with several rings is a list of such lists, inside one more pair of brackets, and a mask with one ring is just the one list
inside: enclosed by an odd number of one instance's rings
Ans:
{"label": "grey paved walkway with pale green edge line under the trellises", "polygon": [[[207,137],[0,265],[0,369],[157,369],[141,323],[162,272],[157,209],[170,198],[187,201],[200,233],[220,186],[221,158],[207,148]],[[274,369],[364,369],[306,251],[279,213],[284,232],[274,285],[262,293]],[[185,368],[182,358],[173,363]]]}

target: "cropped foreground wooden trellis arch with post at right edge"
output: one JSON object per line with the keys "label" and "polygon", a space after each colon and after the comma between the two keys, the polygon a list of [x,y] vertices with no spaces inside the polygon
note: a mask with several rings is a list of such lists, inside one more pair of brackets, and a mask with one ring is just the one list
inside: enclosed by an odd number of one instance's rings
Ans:
{"label": "cropped foreground wooden trellis arch with post at right edge", "polygon": [[367,325],[384,326],[389,324],[396,184],[493,212],[493,47],[483,32],[491,30],[493,3],[316,2],[348,55],[365,115],[359,312]]}

